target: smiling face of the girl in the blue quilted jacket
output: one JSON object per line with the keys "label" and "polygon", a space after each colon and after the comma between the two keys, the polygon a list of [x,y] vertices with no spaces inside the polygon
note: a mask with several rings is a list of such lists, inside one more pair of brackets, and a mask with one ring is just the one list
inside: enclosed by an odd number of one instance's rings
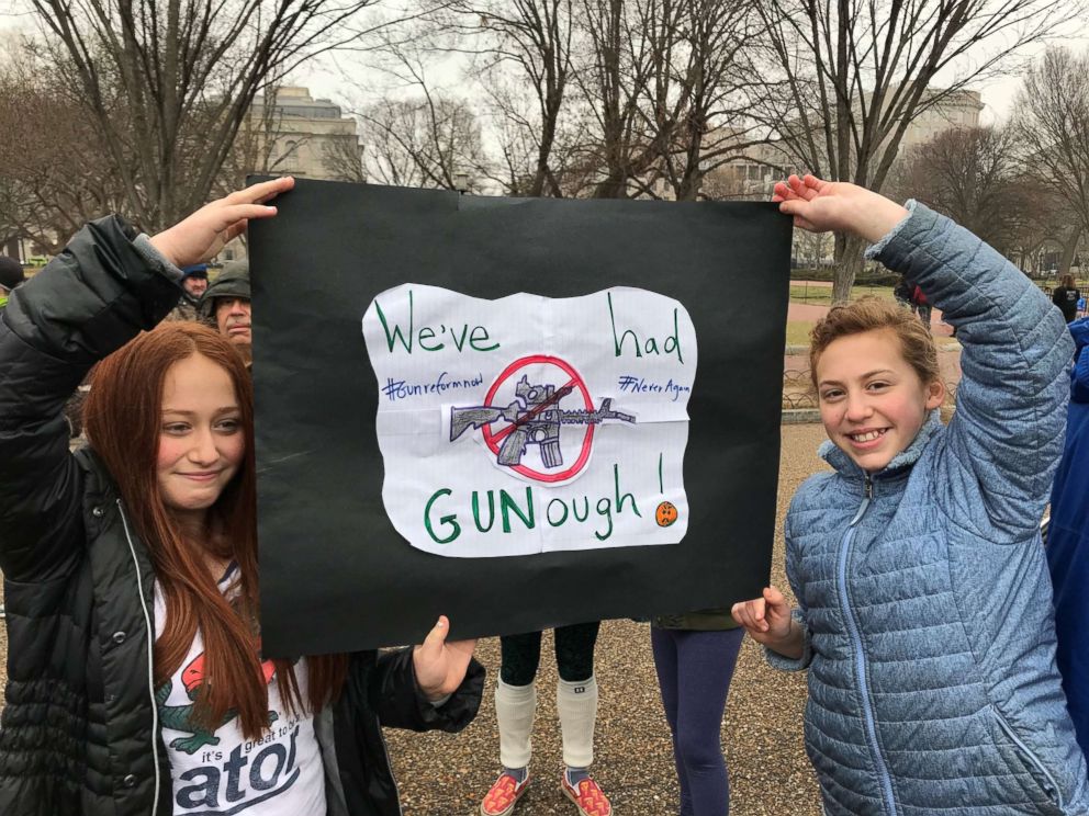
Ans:
{"label": "smiling face of the girl in the blue quilted jacket", "polygon": [[867,473],[906,450],[945,398],[941,379],[923,383],[888,329],[829,343],[817,362],[820,418],[828,438]]}

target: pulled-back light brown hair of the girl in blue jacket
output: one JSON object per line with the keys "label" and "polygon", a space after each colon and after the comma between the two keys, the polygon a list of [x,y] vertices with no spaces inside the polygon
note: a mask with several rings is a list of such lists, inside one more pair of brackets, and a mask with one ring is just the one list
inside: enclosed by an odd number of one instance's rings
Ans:
{"label": "pulled-back light brown hair of the girl in blue jacket", "polygon": [[864,331],[887,329],[900,341],[900,353],[925,385],[941,378],[938,347],[922,321],[908,309],[879,297],[867,296],[833,306],[809,332],[809,373],[817,387],[817,363],[834,340]]}

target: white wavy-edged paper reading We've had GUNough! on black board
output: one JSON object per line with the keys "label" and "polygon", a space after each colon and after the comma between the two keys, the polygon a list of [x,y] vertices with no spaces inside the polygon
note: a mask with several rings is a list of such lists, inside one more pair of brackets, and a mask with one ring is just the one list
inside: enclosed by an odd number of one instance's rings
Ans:
{"label": "white wavy-edged paper reading We've had GUNough! on black board", "polygon": [[696,331],[677,301],[408,283],[362,327],[382,500],[413,546],[494,557],[684,537]]}

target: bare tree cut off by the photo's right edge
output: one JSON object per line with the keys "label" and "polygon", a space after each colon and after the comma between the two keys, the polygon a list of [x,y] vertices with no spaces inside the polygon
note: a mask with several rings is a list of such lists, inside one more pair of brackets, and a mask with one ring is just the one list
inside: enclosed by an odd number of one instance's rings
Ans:
{"label": "bare tree cut off by the photo's right edge", "polygon": [[1089,53],[1049,48],[1024,75],[1014,122],[1026,161],[1069,213],[1059,260],[1067,274],[1089,229]]}

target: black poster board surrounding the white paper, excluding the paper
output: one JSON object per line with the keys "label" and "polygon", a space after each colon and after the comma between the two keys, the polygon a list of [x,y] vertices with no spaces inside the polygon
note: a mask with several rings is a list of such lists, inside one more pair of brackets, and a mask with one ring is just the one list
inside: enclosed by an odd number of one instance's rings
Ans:
{"label": "black poster board surrounding the white paper, excluding the paper", "polygon": [[[415,643],[440,613],[454,637],[513,634],[722,607],[765,585],[792,229],[775,205],[491,199],[314,181],[276,203],[279,215],[249,233],[266,654]],[[411,546],[382,500],[383,397],[361,329],[372,301],[405,283],[489,301],[637,287],[683,304],[699,349],[683,540],[469,558]],[[620,351],[630,356],[633,343]],[[495,366],[483,376],[493,379]],[[600,432],[619,433],[604,423]],[[435,476],[426,461],[419,467]]]}

